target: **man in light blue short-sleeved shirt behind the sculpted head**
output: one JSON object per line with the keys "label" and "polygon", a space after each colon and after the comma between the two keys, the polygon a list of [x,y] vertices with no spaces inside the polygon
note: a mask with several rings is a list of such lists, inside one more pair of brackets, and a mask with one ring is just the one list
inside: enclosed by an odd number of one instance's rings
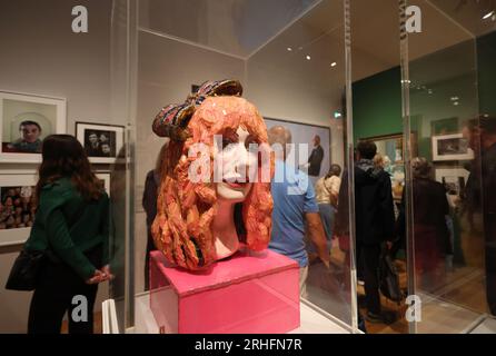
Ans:
{"label": "man in light blue short-sleeved shirt behind the sculpted head", "polygon": [[305,248],[305,235],[308,234],[317,247],[319,258],[329,267],[330,256],[327,251],[326,236],[308,176],[286,161],[291,132],[282,126],[275,126],[268,134],[269,144],[276,151],[276,171],[271,182],[274,210],[269,249],[299,264],[300,295],[306,296],[308,255]]}

